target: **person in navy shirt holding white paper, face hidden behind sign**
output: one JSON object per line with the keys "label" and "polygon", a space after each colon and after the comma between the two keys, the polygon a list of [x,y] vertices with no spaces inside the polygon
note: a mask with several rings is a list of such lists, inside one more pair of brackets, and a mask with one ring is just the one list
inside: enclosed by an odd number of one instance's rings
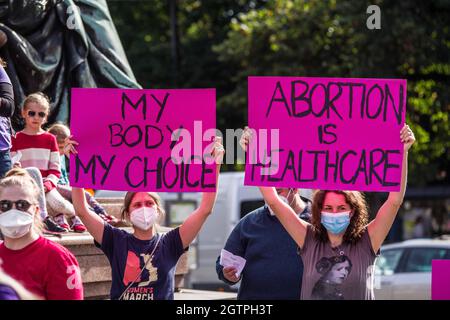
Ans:
{"label": "person in navy shirt holding white paper, face hidden behind sign", "polygon": [[[304,220],[311,215],[311,202],[298,189],[277,189],[292,209]],[[243,217],[231,232],[225,250],[246,260],[236,277],[236,269],[224,268],[217,258],[220,280],[229,285],[241,281],[239,300],[298,300],[302,286],[303,262],[297,245],[269,207],[258,208]]]}

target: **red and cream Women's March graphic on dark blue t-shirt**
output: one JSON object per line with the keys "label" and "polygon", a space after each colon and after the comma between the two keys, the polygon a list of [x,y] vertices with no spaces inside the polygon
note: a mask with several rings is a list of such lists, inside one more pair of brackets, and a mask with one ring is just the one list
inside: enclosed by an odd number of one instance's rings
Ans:
{"label": "red and cream Women's March graphic on dark blue t-shirt", "polygon": [[153,266],[152,258],[150,254],[138,257],[134,252],[128,251],[123,284],[134,284],[123,294],[123,300],[153,300],[155,292],[150,284],[158,280],[158,268]]}

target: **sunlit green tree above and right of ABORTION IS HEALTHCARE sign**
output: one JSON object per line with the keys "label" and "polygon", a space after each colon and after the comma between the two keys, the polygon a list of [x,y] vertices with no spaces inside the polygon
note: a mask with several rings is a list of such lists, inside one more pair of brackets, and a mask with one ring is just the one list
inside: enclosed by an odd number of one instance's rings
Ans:
{"label": "sunlit green tree above and right of ABORTION IS HEALTHCARE sign", "polygon": [[[366,27],[366,8],[381,9],[380,30]],[[215,47],[239,65],[221,110],[245,119],[247,76],[406,78],[407,123],[417,145],[410,182],[448,183],[449,1],[272,1],[232,20]]]}

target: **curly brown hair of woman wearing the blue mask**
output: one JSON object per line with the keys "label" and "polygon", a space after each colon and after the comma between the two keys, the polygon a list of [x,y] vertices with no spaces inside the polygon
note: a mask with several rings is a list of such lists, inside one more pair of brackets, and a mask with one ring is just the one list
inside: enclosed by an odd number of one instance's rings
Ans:
{"label": "curly brown hair of woman wearing the blue mask", "polygon": [[369,213],[364,195],[358,191],[341,191],[341,190],[318,190],[314,193],[312,204],[311,224],[314,229],[314,235],[320,241],[328,241],[327,229],[321,223],[321,212],[325,196],[327,193],[333,192],[342,194],[345,201],[353,210],[353,216],[350,219],[350,225],[344,234],[344,241],[354,243],[358,241],[366,229],[369,221]]}

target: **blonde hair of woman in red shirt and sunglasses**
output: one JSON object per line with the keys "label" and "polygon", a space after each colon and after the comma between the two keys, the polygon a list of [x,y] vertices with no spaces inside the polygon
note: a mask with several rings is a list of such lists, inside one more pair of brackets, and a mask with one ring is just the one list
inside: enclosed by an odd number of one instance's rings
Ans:
{"label": "blonde hair of woman in red shirt and sunglasses", "polygon": [[[4,189],[10,187],[19,187],[23,190],[27,190],[33,200],[32,204],[37,205],[39,203],[39,194],[41,191],[39,190],[36,182],[25,169],[13,168],[6,173],[3,179],[0,180],[0,193]],[[39,214],[34,214],[33,228],[37,234],[42,233],[43,225]]]}

